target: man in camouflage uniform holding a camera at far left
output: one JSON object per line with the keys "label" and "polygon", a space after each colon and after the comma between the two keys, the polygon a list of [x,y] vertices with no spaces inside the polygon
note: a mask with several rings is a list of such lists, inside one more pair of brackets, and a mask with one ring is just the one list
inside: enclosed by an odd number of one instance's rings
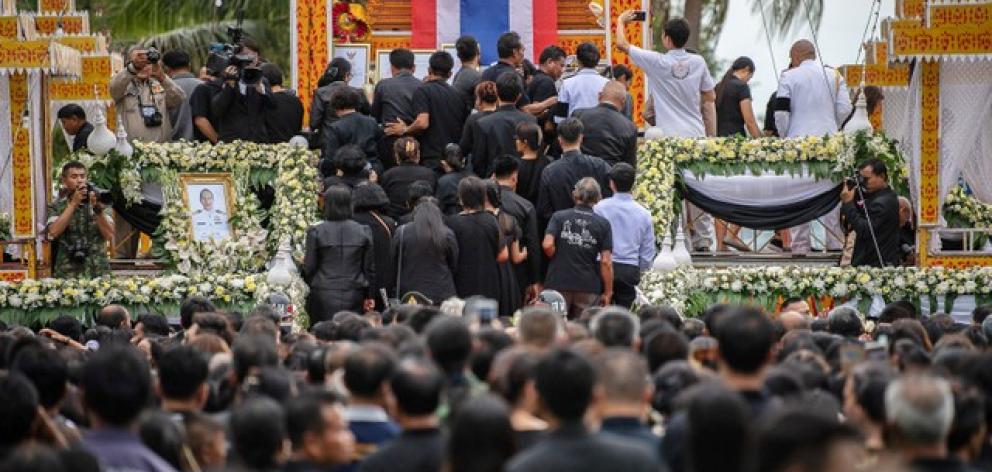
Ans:
{"label": "man in camouflage uniform holding a camera at far left", "polygon": [[109,270],[107,241],[113,239],[114,220],[89,191],[83,164],[62,166],[62,190],[48,205],[45,231],[52,241],[54,277],[98,277]]}

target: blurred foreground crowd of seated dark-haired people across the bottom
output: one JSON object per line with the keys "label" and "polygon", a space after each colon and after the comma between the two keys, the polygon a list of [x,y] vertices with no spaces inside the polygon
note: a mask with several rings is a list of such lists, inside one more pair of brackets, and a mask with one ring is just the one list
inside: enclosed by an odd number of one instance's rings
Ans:
{"label": "blurred foreground crowd of seated dark-haired people across the bottom", "polygon": [[177,326],[0,326],[0,471],[992,470],[992,307],[809,312],[400,305],[294,332],[193,297]]}

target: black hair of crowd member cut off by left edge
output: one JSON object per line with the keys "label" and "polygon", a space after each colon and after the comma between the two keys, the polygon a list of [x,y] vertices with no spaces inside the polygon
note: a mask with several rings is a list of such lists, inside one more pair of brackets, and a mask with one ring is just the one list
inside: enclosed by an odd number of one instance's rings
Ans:
{"label": "black hair of crowd member cut off by left edge", "polygon": [[10,450],[28,439],[38,415],[38,392],[16,372],[0,373],[0,449]]}

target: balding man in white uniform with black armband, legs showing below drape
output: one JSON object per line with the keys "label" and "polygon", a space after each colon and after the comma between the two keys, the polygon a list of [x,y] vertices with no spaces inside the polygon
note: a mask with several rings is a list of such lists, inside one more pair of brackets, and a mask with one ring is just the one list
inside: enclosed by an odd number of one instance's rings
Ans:
{"label": "balding man in white uniform with black armband, legs showing below drape", "polygon": [[[816,47],[803,39],[789,51],[795,66],[782,73],[775,100],[775,125],[779,135],[786,138],[824,136],[836,133],[851,113],[851,99],[844,76],[816,60]],[[825,215],[821,222],[826,230],[827,249],[842,246],[837,211]],[[789,230],[792,233],[792,253],[809,252],[810,224]]]}

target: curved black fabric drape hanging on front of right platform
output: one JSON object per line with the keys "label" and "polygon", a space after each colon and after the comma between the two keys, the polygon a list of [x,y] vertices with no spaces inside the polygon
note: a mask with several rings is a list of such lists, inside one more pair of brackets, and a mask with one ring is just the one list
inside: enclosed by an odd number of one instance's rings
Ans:
{"label": "curved black fabric drape hanging on front of right platform", "polygon": [[774,206],[737,205],[715,200],[689,186],[682,189],[683,197],[703,211],[745,228],[775,230],[791,228],[830,213],[840,204],[840,188],[836,187],[812,198]]}

